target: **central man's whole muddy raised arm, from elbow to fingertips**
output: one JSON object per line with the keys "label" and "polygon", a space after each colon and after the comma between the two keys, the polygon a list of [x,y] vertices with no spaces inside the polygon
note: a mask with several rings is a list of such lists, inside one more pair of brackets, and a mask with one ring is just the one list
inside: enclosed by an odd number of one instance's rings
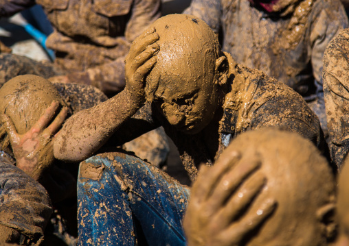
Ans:
{"label": "central man's whole muddy raised arm, from elbow to fingertips", "polygon": [[80,162],[98,151],[117,134],[141,108],[146,99],[146,75],[157,62],[159,35],[148,29],[139,36],[126,58],[126,87],[121,93],[99,105],[71,116],[54,142],[54,156],[65,162]]}

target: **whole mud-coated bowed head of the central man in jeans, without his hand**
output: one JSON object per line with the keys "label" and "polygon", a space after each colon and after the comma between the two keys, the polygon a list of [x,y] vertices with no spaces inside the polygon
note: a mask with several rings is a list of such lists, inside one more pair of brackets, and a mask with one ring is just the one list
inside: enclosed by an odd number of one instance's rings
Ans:
{"label": "whole mud-coated bowed head of the central man in jeans, without his hand", "polygon": [[152,26],[159,34],[160,49],[146,79],[146,99],[154,101],[178,130],[199,132],[218,104],[221,79],[216,63],[221,49],[216,34],[187,14],[164,16]]}

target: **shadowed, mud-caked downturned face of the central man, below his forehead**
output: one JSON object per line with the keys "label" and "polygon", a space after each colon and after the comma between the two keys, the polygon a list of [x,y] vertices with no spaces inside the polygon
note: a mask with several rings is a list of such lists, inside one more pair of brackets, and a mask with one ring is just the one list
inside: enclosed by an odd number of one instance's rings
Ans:
{"label": "shadowed, mud-caked downturned face of the central man, below his forehead", "polygon": [[218,104],[214,69],[212,67],[209,75],[200,68],[195,71],[189,67],[186,71],[172,73],[176,71],[174,66],[160,72],[154,102],[177,130],[196,134],[210,123]]}

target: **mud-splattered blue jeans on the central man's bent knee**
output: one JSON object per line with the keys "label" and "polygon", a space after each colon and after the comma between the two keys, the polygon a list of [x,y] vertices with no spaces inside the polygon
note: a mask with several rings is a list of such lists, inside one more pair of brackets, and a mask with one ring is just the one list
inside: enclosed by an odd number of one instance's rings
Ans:
{"label": "mud-splattered blue jeans on the central man's bent knee", "polygon": [[185,245],[189,188],[124,153],[80,164],[78,245]]}

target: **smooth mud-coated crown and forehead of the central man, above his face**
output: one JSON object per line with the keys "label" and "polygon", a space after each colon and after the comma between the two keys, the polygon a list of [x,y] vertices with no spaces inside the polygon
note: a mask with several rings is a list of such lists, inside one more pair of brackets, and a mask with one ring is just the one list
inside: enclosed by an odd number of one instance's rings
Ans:
{"label": "smooth mud-coated crown and forehead of the central man, above his face", "polygon": [[202,78],[212,77],[220,47],[216,34],[204,21],[188,14],[169,14],[152,27],[159,34],[160,50],[146,80],[148,101],[158,87],[185,90],[186,83],[202,83]]}

